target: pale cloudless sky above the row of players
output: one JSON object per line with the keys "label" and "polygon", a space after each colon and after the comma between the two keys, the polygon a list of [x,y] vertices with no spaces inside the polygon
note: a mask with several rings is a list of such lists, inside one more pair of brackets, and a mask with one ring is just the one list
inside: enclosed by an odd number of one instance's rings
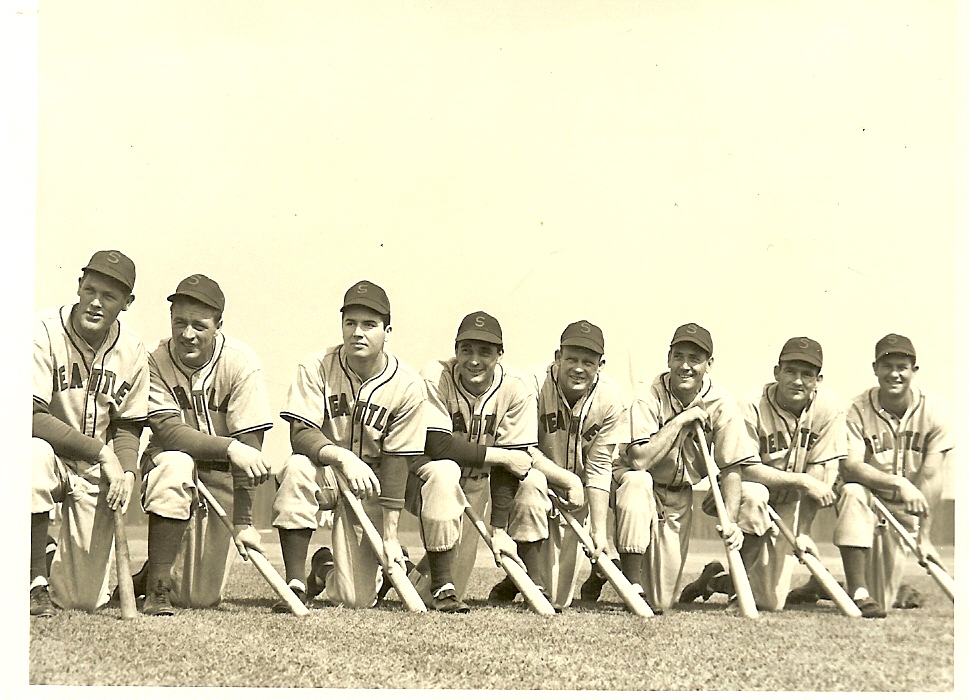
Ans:
{"label": "pale cloudless sky above the row of players", "polygon": [[[138,268],[122,320],[149,347],[180,279],[220,283],[275,410],[369,279],[415,368],[471,311],[520,368],[588,319],[631,400],[696,322],[738,398],[807,335],[847,402],[895,332],[964,424],[956,3],[32,8],[3,2],[5,36],[36,41],[12,64],[35,78],[7,92],[20,327],[118,248]],[[282,421],[267,445],[281,463]]]}

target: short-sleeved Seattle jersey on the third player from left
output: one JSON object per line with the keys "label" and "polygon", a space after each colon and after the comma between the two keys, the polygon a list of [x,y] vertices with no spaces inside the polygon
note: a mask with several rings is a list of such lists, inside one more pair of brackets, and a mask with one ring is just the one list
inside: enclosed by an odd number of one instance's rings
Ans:
{"label": "short-sleeved Seattle jersey on the third player from left", "polygon": [[313,353],[296,369],[280,416],[312,425],[371,467],[379,464],[381,453],[423,454],[424,380],[386,351],[384,358],[384,369],[363,381],[347,365],[342,345]]}

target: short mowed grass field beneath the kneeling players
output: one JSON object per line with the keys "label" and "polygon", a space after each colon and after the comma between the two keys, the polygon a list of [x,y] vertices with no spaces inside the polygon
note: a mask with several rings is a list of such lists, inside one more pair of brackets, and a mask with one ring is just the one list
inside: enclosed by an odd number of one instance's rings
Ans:
{"label": "short mowed grass field beneath the kneeling players", "polygon": [[[324,536],[325,537],[325,536]],[[270,561],[279,548],[265,534]],[[420,552],[413,538],[405,544]],[[833,548],[824,563],[841,578]],[[132,533],[140,565],[143,538]],[[720,557],[694,542],[687,568]],[[944,551],[952,564],[951,548]],[[587,567],[584,567],[587,569]],[[318,602],[308,618],[274,615],[272,591],[237,561],[217,610],[123,621],[117,607],[32,620],[30,683],[62,685],[479,688],[547,690],[952,691],[953,607],[910,564],[925,607],[849,620],[827,602],[746,620],[714,595],[639,619],[609,586],[554,618],[522,605],[491,607],[500,578],[487,553],[467,596],[469,615],[408,613],[395,594],[372,610]],[[584,578],[584,576],[583,576]],[[795,582],[807,579],[799,567]],[[133,662],[134,659],[134,662]]]}

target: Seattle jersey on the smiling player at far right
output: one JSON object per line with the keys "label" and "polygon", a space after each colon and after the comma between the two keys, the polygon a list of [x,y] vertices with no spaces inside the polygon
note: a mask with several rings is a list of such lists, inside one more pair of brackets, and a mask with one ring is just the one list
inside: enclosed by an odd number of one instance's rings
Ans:
{"label": "Seattle jersey on the smiling player at far right", "polygon": [[848,452],[888,474],[911,480],[927,455],[955,447],[952,423],[938,399],[912,387],[912,403],[901,418],[883,408],[878,387],[848,406]]}

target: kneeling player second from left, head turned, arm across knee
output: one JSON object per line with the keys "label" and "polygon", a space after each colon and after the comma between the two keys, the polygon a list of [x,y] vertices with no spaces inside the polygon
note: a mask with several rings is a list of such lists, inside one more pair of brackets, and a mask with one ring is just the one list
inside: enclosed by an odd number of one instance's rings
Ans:
{"label": "kneeling player second from left, head turned, arm across knee", "polygon": [[[243,557],[246,546],[261,549],[252,495],[270,474],[261,452],[272,427],[262,367],[247,345],[222,333],[222,289],[191,275],[168,301],[172,335],[148,361],[151,440],[141,461],[148,560],[134,577],[146,615],[172,615],[173,603],[221,602],[230,544]],[[214,514],[207,517],[196,478],[231,512],[231,534]]]}

